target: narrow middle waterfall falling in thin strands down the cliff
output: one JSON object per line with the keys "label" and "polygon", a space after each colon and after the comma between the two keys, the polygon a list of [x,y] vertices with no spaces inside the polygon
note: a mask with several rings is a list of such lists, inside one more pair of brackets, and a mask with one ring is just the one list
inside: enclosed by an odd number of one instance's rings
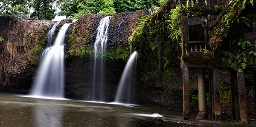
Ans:
{"label": "narrow middle waterfall falling in thin strands down the cliff", "polygon": [[[103,55],[106,50],[108,40],[108,28],[111,16],[103,18],[97,28],[97,37],[94,43],[94,67],[93,67],[93,94],[92,100],[104,101],[104,81],[105,81],[105,59]],[[99,56],[99,58],[98,58]]]}

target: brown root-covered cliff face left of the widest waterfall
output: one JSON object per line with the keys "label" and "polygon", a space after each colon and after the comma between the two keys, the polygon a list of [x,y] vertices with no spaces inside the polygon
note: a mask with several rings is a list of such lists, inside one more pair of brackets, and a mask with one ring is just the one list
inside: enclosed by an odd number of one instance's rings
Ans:
{"label": "brown root-covered cliff face left of the widest waterfall", "polygon": [[[0,87],[11,87],[15,82],[30,82],[37,66],[37,55],[47,40],[46,33],[54,22],[0,18]],[[40,45],[40,47],[39,47]],[[13,79],[15,81],[13,81]],[[23,80],[24,79],[24,80]],[[27,79],[27,80],[26,80]],[[20,82],[21,83],[21,82]]]}

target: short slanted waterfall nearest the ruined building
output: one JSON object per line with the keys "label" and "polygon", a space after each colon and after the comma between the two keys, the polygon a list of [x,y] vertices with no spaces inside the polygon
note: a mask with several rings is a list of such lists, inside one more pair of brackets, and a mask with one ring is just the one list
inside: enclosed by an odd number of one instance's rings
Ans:
{"label": "short slanted waterfall nearest the ruined building", "polygon": [[125,65],[125,70],[122,73],[121,80],[116,92],[115,102],[117,103],[131,103],[133,96],[133,84],[134,84],[134,70],[136,70],[137,52],[134,51],[131,54],[127,64]]}

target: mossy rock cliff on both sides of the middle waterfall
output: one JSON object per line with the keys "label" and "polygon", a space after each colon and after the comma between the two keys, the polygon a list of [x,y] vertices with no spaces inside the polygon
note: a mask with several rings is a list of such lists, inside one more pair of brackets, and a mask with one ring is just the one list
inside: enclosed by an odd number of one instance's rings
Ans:
{"label": "mossy rock cliff on both sides of the middle waterfall", "polygon": [[[106,100],[113,101],[119,79],[130,56],[128,38],[137,26],[141,14],[148,10],[124,12],[111,17],[108,31],[105,75]],[[66,54],[66,96],[76,99],[90,98],[88,93],[93,84],[92,49],[97,36],[100,20],[107,15],[84,14],[76,23],[70,25]]]}

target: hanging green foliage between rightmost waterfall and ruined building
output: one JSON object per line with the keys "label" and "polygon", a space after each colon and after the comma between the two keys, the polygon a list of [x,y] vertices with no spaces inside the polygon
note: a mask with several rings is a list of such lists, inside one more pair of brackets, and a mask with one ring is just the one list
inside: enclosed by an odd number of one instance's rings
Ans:
{"label": "hanging green foliage between rightmost waterfall and ruined building", "polygon": [[[176,10],[172,11],[173,13],[170,10],[172,9],[166,4],[154,11],[151,16],[142,14],[138,19],[137,28],[129,37],[129,43],[138,52],[137,70],[143,81],[168,80],[170,76],[180,74],[180,41],[169,38],[172,30],[177,30],[171,29],[169,24],[174,19],[179,22],[180,14],[177,13],[177,18],[171,18],[176,16]],[[179,23],[175,26],[181,26]],[[177,38],[181,40],[180,36]]]}

